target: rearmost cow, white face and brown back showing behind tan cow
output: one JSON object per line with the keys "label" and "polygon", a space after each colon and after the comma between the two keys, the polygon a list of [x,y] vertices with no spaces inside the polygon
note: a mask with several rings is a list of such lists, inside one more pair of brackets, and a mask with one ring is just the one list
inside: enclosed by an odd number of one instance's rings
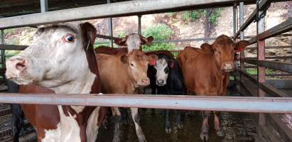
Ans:
{"label": "rearmost cow, white face and brown back showing behind tan cow", "polygon": [[119,45],[119,48],[110,48],[108,46],[99,46],[95,48],[95,53],[104,53],[109,55],[131,53],[131,50],[142,50],[142,45],[151,44],[153,37],[145,38],[143,35],[131,33],[124,38],[115,38],[114,43]]}

